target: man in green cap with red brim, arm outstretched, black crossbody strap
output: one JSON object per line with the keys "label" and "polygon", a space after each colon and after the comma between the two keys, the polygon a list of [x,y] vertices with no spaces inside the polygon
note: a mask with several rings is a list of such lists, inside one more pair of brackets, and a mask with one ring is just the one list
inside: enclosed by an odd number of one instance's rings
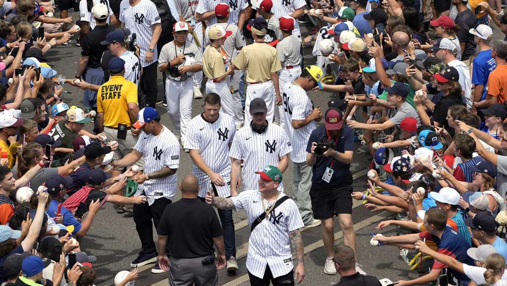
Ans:
{"label": "man in green cap with red brim, arm outstretched, black crossbody strap", "polygon": [[[259,187],[230,198],[208,191],[206,202],[217,209],[246,211],[251,234],[248,239],[246,269],[253,286],[294,285],[303,281],[305,266],[301,228],[304,226],[296,203],[278,190],[282,172],[266,166]],[[291,247],[295,257],[291,255]],[[294,268],[293,259],[297,260]]]}

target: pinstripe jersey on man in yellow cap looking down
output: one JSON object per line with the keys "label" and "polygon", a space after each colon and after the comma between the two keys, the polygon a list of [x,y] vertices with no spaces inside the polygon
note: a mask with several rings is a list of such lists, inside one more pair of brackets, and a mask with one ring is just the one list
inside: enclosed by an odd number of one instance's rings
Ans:
{"label": "pinstripe jersey on man in yellow cap looking down", "polygon": [[306,91],[299,85],[287,83],[283,91],[283,118],[286,122],[285,131],[293,144],[294,150],[291,152],[291,160],[296,163],[306,161],[306,145],[312,131],[317,128],[315,120],[302,128],[294,129],[292,120],[304,120],[313,111],[313,103],[306,94]]}

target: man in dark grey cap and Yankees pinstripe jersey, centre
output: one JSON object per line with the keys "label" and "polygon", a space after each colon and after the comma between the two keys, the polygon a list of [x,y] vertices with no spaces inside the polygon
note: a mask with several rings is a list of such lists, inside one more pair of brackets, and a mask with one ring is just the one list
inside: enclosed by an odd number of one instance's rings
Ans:
{"label": "man in dark grey cap and Yankees pinstripe jersey, centre", "polygon": [[[277,125],[266,120],[268,108],[262,98],[253,99],[249,112],[252,120],[243,126],[232,142],[229,156],[231,157],[231,193],[236,192],[240,161],[243,160],[243,190],[252,190],[259,187],[259,181],[253,175],[255,170],[263,166],[277,166],[285,172],[288,165],[288,153],[292,152],[291,141],[285,131]],[[278,185],[283,190],[283,184]]]}

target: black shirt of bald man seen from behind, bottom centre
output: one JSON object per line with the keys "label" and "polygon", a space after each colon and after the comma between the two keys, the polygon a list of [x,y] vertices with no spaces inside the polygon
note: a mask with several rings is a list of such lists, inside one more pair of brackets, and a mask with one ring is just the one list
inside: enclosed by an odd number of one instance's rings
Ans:
{"label": "black shirt of bald man seen from behind, bottom centre", "polygon": [[214,253],[213,237],[222,235],[222,227],[213,207],[198,198],[182,198],[165,207],[158,233],[168,236],[167,256],[198,258]]}

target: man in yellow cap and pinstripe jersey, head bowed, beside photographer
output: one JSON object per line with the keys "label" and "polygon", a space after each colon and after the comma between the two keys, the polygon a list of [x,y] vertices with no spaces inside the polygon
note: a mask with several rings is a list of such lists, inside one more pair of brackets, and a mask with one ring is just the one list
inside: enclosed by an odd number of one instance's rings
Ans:
{"label": "man in yellow cap and pinstripe jersey, head bowed, beside photographer", "polygon": [[[297,38],[296,38],[297,39]],[[299,55],[299,54],[298,54]],[[301,77],[283,86],[283,117],[285,131],[293,144],[291,153],[293,165],[293,199],[298,205],[305,226],[318,226],[320,220],[314,220],[310,201],[312,168],[306,164],[306,145],[317,122],[322,119],[320,107],[314,107],[306,94],[320,83],[322,70],[315,65],[306,67]]]}

